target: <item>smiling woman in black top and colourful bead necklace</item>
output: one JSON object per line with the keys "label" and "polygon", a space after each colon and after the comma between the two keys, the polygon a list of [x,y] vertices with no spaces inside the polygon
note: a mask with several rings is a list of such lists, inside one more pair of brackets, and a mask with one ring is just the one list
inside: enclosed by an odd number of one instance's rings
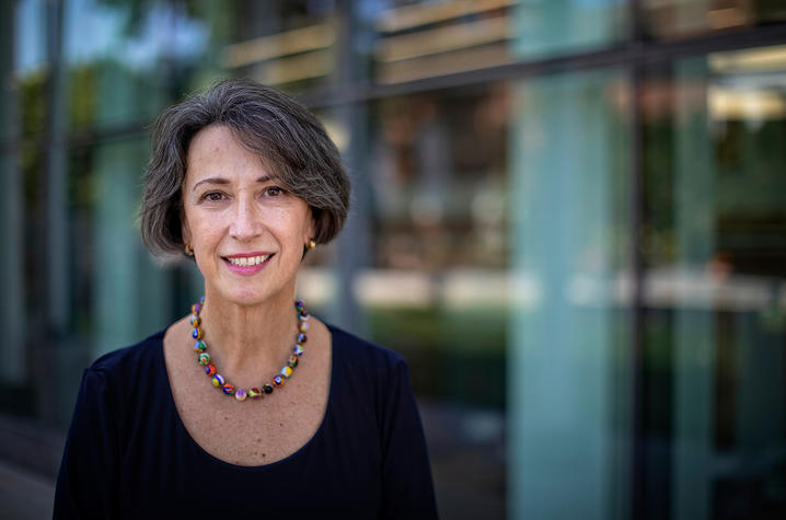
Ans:
{"label": "smiling woman in black top and colourful bead necklace", "polygon": [[85,370],[55,517],[435,518],[405,362],[294,302],[348,209],[322,125],[231,80],[166,109],[153,142],[142,238],[192,256],[205,297]]}

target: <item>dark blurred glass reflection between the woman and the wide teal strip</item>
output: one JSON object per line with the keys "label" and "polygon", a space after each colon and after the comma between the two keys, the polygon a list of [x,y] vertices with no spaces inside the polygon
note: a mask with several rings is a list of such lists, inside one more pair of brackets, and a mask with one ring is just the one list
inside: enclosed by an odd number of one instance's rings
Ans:
{"label": "dark blurred glass reflection between the woman and the wide teal strip", "polygon": [[372,111],[373,256],[355,294],[409,362],[444,518],[505,511],[509,102],[499,83]]}

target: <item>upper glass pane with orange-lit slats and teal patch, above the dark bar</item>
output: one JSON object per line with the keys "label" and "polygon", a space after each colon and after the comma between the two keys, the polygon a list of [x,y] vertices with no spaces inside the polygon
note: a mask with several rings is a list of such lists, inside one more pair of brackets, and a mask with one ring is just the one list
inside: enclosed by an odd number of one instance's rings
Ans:
{"label": "upper glass pane with orange-lit slats and teal patch, above the dark bar", "polygon": [[373,42],[370,58],[379,83],[594,50],[620,41],[626,31],[622,0],[395,3],[358,8]]}

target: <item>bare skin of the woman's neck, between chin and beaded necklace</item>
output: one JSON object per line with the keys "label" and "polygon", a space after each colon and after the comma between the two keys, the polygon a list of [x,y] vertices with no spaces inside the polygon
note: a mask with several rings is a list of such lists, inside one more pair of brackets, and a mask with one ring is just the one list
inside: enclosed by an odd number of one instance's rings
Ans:
{"label": "bare skin of the woman's neck, between chin and beaded necklace", "polygon": [[297,336],[294,288],[255,305],[227,301],[208,287],[205,293],[205,343],[224,375],[240,384],[277,372]]}

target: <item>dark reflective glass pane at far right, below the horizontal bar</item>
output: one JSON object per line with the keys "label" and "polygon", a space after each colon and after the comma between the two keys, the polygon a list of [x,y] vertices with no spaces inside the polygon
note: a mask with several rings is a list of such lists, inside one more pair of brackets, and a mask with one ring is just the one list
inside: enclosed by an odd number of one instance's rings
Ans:
{"label": "dark reflective glass pane at far right, below the horizontal bar", "polygon": [[[786,512],[786,53],[678,61],[646,111],[651,518]],[[669,506],[666,506],[669,505]]]}

